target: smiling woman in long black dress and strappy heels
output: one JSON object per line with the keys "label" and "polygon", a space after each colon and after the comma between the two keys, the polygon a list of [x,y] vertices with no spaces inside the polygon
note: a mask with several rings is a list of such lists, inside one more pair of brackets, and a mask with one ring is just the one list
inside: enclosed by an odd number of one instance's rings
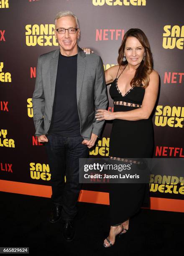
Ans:
{"label": "smiling woman in long black dress and strappy heels", "polygon": [[[159,77],[153,70],[150,45],[143,31],[128,30],[118,53],[119,65],[105,71],[106,84],[111,83],[109,92],[114,100],[114,112],[99,109],[95,117],[113,120],[111,159],[150,158],[153,154],[151,113],[158,95]],[[140,210],[143,202],[148,202],[148,184],[110,184],[109,195],[111,227],[105,247],[115,243],[116,235],[128,231],[129,218]]]}

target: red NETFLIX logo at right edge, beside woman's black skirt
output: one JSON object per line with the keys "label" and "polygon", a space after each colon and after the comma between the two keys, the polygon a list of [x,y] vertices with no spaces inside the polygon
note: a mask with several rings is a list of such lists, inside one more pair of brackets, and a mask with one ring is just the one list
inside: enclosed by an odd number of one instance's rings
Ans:
{"label": "red NETFLIX logo at right edge, beside woman's black skirt", "polygon": [[183,148],[156,146],[155,156],[184,157]]}

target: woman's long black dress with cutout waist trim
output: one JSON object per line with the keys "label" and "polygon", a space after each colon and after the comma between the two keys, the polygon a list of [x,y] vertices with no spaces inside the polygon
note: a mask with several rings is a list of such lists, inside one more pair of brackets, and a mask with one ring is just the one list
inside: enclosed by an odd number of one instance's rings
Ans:
{"label": "woman's long black dress with cutout waist trim", "polygon": [[[145,89],[132,87],[125,95],[122,95],[117,84],[118,78],[116,77],[112,82],[109,90],[114,100],[114,112],[141,108]],[[151,158],[152,155],[153,123],[151,118],[137,121],[113,120],[109,145],[109,156],[112,159]],[[141,206],[148,207],[149,205],[148,184],[110,184],[109,195],[112,226],[128,220],[140,210]]]}

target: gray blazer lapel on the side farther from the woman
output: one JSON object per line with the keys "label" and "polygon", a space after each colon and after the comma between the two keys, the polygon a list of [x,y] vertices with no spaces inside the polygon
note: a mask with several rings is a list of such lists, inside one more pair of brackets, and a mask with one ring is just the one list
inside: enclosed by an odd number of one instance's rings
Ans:
{"label": "gray blazer lapel on the side farther from the woman", "polygon": [[58,68],[58,59],[59,59],[60,49],[54,51],[53,57],[50,61],[50,74],[51,74],[51,104],[54,102],[54,93],[56,87],[56,77],[57,77],[57,68]]}

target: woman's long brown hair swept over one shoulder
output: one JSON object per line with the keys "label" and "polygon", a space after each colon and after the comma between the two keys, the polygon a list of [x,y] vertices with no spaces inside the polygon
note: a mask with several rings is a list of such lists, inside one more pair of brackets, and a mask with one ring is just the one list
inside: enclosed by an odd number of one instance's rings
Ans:
{"label": "woman's long brown hair swept over one shoulder", "polygon": [[[135,76],[130,82],[131,86],[143,87],[146,88],[149,84],[149,74],[151,74],[153,70],[153,57],[150,49],[150,44],[148,42],[148,38],[145,33],[139,28],[130,28],[124,35],[123,41],[121,43],[120,49],[118,51],[118,64],[126,65],[128,61],[123,61],[124,51],[125,51],[125,43],[129,36],[134,36],[138,39],[138,41],[142,44],[145,49],[145,60],[141,61],[141,64],[135,71]],[[143,84],[144,85],[143,85]]]}

